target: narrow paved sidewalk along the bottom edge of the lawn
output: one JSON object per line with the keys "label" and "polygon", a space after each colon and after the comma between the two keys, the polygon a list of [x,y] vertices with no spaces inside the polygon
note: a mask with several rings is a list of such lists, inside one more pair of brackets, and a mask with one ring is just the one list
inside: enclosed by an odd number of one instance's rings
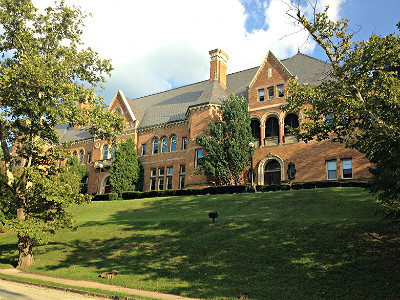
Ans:
{"label": "narrow paved sidewalk along the bottom edge of the lawn", "polygon": [[168,295],[168,294],[162,294],[162,293],[156,293],[156,292],[148,292],[148,291],[143,291],[143,290],[138,290],[138,289],[124,288],[124,287],[120,287],[120,286],[109,285],[109,284],[93,282],[93,281],[72,280],[72,279],[44,276],[44,275],[33,274],[33,273],[25,273],[18,269],[0,269],[0,275],[1,274],[39,279],[39,280],[43,280],[43,281],[47,281],[47,282],[55,282],[55,283],[70,285],[70,286],[74,286],[74,287],[95,288],[95,289],[100,289],[100,290],[119,292],[119,293],[125,293],[125,294],[130,294],[130,295],[149,297],[149,298],[153,298],[153,299],[160,299],[160,300],[200,300],[200,299],[185,298],[185,297],[181,297],[181,296]]}

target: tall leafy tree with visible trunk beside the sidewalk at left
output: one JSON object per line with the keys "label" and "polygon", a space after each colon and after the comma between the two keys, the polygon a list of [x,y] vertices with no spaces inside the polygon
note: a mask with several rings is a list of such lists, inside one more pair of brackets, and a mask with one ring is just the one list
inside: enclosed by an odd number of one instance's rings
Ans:
{"label": "tall leafy tree with visible trunk beside the sidewalk at left", "polygon": [[60,145],[55,126],[88,125],[99,139],[123,129],[94,93],[112,66],[82,49],[85,17],[63,1],[41,14],[30,0],[0,0],[1,226],[18,235],[19,267],[33,264],[33,244],[73,227],[65,208],[87,197],[76,189],[78,177],[63,179],[70,166],[59,161],[68,145]]}

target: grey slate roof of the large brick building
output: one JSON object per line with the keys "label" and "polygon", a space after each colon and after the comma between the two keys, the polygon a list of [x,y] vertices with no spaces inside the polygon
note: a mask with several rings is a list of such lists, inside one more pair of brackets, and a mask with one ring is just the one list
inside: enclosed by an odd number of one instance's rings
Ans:
{"label": "grey slate roof of the large brick building", "polygon": [[[297,53],[281,60],[281,63],[298,82],[319,84],[329,76],[331,65],[313,57]],[[227,75],[227,90],[224,91],[217,81],[209,80],[182,86],[165,92],[137,98],[127,99],[139,129],[185,120],[189,107],[201,104],[222,104],[230,93],[248,99],[247,87],[250,85],[259,67]],[[90,139],[93,136],[87,128],[66,130],[60,128],[61,142]]]}

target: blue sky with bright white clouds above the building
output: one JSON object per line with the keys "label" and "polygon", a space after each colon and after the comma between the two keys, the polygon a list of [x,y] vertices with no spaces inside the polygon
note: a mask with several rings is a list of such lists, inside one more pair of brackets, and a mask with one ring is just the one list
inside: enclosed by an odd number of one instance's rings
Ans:
{"label": "blue sky with bright white clouds above the building", "polygon": [[[297,0],[66,0],[91,12],[83,40],[114,71],[101,93],[110,103],[118,89],[129,98],[158,93],[209,77],[208,51],[229,55],[228,73],[258,66],[268,50],[278,58],[302,53],[326,60],[307,34],[285,14]],[[312,1],[312,0],[311,0]],[[53,0],[33,0],[39,8]],[[306,1],[301,0],[306,3]],[[304,4],[302,3],[302,4]],[[399,33],[400,0],[318,0],[329,4],[333,19],[349,18],[359,30],[356,40],[371,34]],[[305,5],[305,4],[304,4]],[[295,34],[293,34],[295,33]],[[289,35],[288,37],[285,37]]]}

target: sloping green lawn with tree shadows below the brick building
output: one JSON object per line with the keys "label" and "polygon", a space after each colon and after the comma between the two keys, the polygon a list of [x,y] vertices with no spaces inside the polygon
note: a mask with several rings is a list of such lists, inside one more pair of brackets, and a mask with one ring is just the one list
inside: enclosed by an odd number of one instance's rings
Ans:
{"label": "sloping green lawn with tree shadows below the brick building", "polygon": [[[217,210],[215,226],[208,212]],[[31,272],[207,299],[397,299],[400,239],[360,188],[93,202]],[[15,264],[15,235],[0,266]]]}

